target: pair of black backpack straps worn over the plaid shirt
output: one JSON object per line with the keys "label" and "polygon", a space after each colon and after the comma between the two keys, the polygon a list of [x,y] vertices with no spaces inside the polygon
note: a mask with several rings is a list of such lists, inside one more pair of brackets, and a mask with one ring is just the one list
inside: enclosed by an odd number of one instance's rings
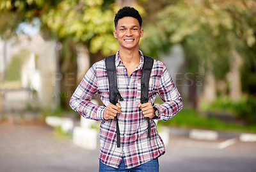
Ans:
{"label": "pair of black backpack straps worn over the plaid shirt", "polygon": [[[116,57],[115,55],[108,56],[108,58],[106,58],[105,60],[106,70],[108,73],[108,82],[109,82],[109,102],[111,102],[111,104],[114,104],[114,105],[116,105],[116,103],[118,102],[118,99],[120,101],[124,100],[124,98],[122,98],[122,96],[120,95],[120,92],[118,91],[115,57]],[[149,84],[152,66],[154,64],[154,59],[148,56],[143,56],[143,57],[144,57],[144,63],[141,70],[141,97],[140,97],[141,104],[148,102],[148,84]],[[117,147],[120,148],[120,129],[118,125],[117,116],[115,117],[115,120],[116,120],[116,144],[117,144]],[[148,137],[151,137],[151,134],[150,134],[151,127],[150,127],[149,118],[147,118],[147,123],[148,123]]]}

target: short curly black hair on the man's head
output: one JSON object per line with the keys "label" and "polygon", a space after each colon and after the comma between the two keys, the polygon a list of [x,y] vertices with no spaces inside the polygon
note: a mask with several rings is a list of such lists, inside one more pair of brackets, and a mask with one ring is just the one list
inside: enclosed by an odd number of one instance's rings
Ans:
{"label": "short curly black hair on the man's head", "polygon": [[118,24],[118,20],[122,19],[124,17],[134,17],[135,19],[137,19],[139,21],[139,24],[141,27],[142,19],[141,19],[140,13],[135,8],[132,8],[130,6],[124,6],[116,13],[115,20],[114,20],[115,27]]}

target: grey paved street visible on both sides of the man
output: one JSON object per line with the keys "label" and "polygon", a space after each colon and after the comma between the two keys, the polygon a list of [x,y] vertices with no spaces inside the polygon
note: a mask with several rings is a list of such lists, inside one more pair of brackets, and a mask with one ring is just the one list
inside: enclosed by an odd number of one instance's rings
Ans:
{"label": "grey paved street visible on both sides of the man", "polygon": [[[172,136],[160,171],[256,171],[256,143],[195,141]],[[1,172],[98,171],[97,150],[84,150],[46,125],[0,124]]]}

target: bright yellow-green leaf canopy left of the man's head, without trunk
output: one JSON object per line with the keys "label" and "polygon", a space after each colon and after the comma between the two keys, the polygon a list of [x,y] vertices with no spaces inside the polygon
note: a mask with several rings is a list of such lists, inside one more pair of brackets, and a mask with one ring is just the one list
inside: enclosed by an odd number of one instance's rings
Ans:
{"label": "bright yellow-green leaf canopy left of the man's head, without trunk", "polygon": [[104,1],[61,1],[42,15],[42,22],[58,37],[72,36],[76,42],[88,43],[90,51],[111,54],[116,51],[113,37],[113,9],[104,8]]}

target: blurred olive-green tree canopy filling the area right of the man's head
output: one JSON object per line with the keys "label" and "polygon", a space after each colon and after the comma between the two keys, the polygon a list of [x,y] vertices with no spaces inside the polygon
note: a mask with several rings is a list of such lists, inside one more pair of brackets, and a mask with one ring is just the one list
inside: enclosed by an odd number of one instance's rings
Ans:
{"label": "blurred olive-green tree canopy filling the area right of the man's head", "polygon": [[217,81],[228,83],[230,62],[234,61],[232,52],[239,52],[244,61],[242,79],[244,81],[248,74],[251,77],[243,82],[243,90],[255,92],[255,1],[159,2],[149,0],[145,4],[148,22],[152,21],[145,26],[148,30],[142,47],[145,53],[156,55],[170,50],[173,43],[180,43],[186,55],[188,72],[212,72]]}

